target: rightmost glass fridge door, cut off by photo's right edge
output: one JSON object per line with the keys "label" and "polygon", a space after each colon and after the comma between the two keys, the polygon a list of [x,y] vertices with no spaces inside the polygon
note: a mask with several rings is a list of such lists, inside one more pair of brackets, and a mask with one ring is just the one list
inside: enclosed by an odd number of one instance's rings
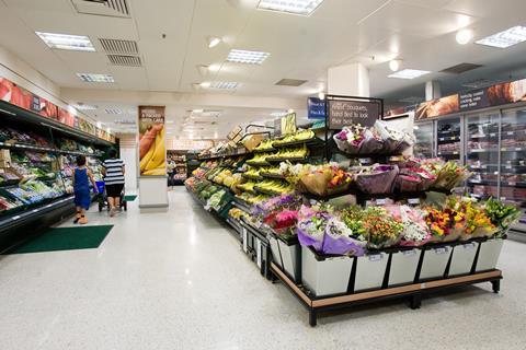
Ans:
{"label": "rightmost glass fridge door, cut off by photo's right edge", "polygon": [[[505,110],[501,120],[501,199],[526,209],[526,108]],[[526,215],[515,228],[526,231]]]}

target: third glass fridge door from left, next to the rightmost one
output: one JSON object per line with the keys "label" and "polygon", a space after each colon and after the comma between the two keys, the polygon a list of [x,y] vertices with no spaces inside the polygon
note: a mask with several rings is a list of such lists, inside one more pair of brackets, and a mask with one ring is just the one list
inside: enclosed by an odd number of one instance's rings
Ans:
{"label": "third glass fridge door from left, next to the rightmost one", "polygon": [[499,112],[466,116],[467,187],[480,199],[499,196]]}

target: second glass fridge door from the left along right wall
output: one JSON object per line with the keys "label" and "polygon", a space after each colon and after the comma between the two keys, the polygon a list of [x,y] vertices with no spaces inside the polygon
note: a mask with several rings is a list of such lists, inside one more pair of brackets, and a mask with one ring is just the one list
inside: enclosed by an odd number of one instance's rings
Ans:
{"label": "second glass fridge door from the left along right wall", "polygon": [[437,155],[446,161],[462,162],[460,117],[436,121]]}

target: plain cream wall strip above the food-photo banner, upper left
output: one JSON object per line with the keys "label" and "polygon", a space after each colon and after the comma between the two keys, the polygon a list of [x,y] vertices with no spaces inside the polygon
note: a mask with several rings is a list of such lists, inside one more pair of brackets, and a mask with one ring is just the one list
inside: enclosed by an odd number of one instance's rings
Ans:
{"label": "plain cream wall strip above the food-photo banner, upper left", "polygon": [[13,52],[0,46],[0,77],[7,78],[22,88],[65,107],[60,100],[60,88]]}

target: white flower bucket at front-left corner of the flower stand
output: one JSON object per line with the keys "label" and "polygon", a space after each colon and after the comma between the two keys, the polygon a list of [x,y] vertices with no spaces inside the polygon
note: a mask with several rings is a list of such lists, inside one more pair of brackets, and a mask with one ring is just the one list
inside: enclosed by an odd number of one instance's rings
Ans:
{"label": "white flower bucket at front-left corner of the flower stand", "polygon": [[301,247],[301,283],[316,296],[347,292],[353,257],[321,257],[311,247]]}

